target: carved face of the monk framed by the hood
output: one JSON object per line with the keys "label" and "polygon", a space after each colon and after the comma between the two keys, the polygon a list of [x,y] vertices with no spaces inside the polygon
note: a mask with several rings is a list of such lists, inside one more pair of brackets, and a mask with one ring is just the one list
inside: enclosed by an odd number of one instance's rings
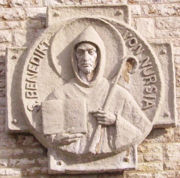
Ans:
{"label": "carved face of the monk framed by the hood", "polygon": [[75,54],[78,69],[85,74],[92,73],[97,65],[96,47],[90,43],[81,43],[77,46]]}

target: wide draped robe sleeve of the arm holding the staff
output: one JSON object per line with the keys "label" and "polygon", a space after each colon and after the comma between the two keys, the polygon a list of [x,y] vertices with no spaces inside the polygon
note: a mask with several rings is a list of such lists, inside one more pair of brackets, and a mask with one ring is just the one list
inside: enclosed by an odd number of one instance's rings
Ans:
{"label": "wide draped robe sleeve of the arm holding the staff", "polygon": [[139,144],[147,136],[152,124],[140,109],[135,99],[125,93],[124,102],[117,113],[115,150],[125,150]]}

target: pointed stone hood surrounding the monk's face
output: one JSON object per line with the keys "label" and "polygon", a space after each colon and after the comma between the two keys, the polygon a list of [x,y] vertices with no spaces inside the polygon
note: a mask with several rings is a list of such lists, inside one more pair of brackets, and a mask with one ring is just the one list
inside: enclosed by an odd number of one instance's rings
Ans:
{"label": "pointed stone hood surrounding the monk's face", "polygon": [[[96,46],[97,48],[97,66],[95,69],[95,75],[93,77],[93,80],[87,84],[86,82],[84,82],[80,76],[79,76],[79,72],[78,72],[78,67],[77,67],[77,60],[76,60],[76,55],[75,55],[75,49],[76,46],[80,43],[84,43],[84,42],[89,42],[92,43]],[[74,43],[73,43],[73,49],[72,49],[73,53],[72,53],[72,58],[71,58],[71,62],[72,62],[72,68],[75,74],[75,77],[78,81],[78,83],[80,85],[83,85],[85,87],[92,87],[94,85],[96,85],[96,83],[103,78],[103,74],[104,74],[104,68],[105,68],[105,46],[104,43],[102,41],[102,39],[100,38],[99,34],[95,31],[95,29],[92,26],[87,27],[83,32],[80,33],[80,35],[75,39]]]}

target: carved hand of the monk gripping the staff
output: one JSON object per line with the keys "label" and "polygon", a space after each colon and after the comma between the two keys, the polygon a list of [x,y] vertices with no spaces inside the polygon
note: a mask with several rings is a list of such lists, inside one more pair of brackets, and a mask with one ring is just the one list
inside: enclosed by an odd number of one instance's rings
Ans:
{"label": "carved hand of the monk gripping the staff", "polygon": [[116,115],[111,112],[98,110],[91,113],[97,119],[98,124],[110,126],[116,122]]}

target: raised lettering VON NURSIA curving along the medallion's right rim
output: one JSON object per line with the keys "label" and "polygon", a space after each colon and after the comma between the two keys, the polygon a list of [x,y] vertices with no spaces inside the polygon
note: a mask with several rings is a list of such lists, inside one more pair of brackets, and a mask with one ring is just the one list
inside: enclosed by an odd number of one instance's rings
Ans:
{"label": "raised lettering VON NURSIA curving along the medallion's right rim", "polygon": [[[143,54],[144,48],[142,43],[140,43],[131,32],[127,30],[123,37],[126,45],[135,56]],[[144,81],[142,109],[146,110],[155,106],[156,103],[157,87],[155,84],[157,82],[157,76],[152,60],[149,56],[145,55],[145,57],[143,57],[143,59],[141,59],[139,62],[141,63],[140,70]]]}

